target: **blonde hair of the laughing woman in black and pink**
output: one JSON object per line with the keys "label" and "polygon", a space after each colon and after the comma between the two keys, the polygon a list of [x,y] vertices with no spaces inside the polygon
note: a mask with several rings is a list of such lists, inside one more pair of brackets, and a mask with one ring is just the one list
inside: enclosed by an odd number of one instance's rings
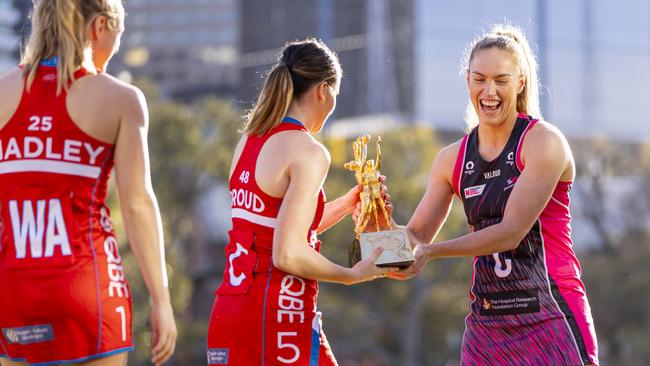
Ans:
{"label": "blonde hair of the laughing woman in black and pink", "polygon": [[[469,65],[476,51],[489,48],[509,51],[515,56],[516,63],[524,75],[524,88],[517,95],[517,112],[543,119],[539,104],[540,83],[537,59],[524,32],[509,23],[495,24],[490,32],[475,39],[468,48],[469,51],[463,57],[465,72],[469,72]],[[465,122],[470,130],[478,124],[478,116],[471,101],[465,108]]]}

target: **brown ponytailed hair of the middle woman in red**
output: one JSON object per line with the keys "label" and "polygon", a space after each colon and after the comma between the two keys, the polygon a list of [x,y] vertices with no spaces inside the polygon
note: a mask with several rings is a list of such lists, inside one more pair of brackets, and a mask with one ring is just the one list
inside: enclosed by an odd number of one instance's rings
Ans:
{"label": "brown ponytailed hair of the middle woman in red", "polygon": [[255,106],[245,116],[242,132],[263,135],[282,122],[291,103],[313,85],[325,81],[334,86],[341,79],[338,57],[325,43],[314,38],[284,45],[271,68]]}

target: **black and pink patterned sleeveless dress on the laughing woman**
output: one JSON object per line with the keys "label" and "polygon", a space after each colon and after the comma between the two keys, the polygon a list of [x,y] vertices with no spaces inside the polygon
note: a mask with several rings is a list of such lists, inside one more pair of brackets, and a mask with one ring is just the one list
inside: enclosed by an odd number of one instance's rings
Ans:
{"label": "black and pink patterned sleeveless dress on the laughing woman", "polygon": [[[535,123],[520,114],[503,151],[491,162],[478,153],[478,128],[463,138],[454,190],[473,231],[503,219],[524,169],[521,146]],[[598,364],[591,308],[572,249],[570,187],[571,182],[557,184],[516,249],[474,258],[463,365]]]}

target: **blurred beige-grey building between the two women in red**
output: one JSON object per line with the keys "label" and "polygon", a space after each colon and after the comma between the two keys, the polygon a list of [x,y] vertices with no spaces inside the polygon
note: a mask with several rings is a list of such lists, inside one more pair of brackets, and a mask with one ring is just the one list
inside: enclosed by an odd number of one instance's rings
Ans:
{"label": "blurred beige-grey building between the two women in red", "polygon": [[232,95],[239,83],[236,0],[130,0],[110,71],[154,80],[179,99]]}

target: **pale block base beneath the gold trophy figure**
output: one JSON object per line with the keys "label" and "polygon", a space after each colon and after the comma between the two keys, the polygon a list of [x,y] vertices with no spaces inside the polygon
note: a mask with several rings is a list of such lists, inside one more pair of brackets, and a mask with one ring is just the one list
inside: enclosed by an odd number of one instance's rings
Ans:
{"label": "pale block base beneath the gold trophy figure", "polygon": [[361,258],[370,257],[377,247],[384,248],[375,264],[378,267],[406,268],[415,261],[405,229],[362,233],[359,236]]}

